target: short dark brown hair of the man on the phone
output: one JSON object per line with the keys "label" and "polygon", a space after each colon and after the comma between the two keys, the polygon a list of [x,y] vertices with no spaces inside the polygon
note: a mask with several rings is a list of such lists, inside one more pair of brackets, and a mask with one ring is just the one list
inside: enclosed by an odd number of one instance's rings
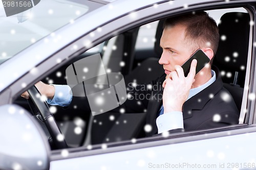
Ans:
{"label": "short dark brown hair of the man on the phone", "polygon": [[206,12],[193,12],[167,18],[164,21],[163,29],[179,24],[186,26],[185,43],[190,46],[192,44],[192,53],[198,48],[210,47],[214,51],[214,55],[216,54],[220,39],[219,28],[216,21]]}

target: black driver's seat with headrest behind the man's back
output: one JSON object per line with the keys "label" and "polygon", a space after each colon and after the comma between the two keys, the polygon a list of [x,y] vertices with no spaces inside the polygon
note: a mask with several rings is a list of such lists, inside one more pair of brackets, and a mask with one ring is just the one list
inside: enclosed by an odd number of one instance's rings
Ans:
{"label": "black driver's seat with headrest behind the man's back", "polygon": [[219,23],[220,42],[213,64],[222,75],[224,87],[231,93],[241,111],[249,45],[248,13],[229,12]]}

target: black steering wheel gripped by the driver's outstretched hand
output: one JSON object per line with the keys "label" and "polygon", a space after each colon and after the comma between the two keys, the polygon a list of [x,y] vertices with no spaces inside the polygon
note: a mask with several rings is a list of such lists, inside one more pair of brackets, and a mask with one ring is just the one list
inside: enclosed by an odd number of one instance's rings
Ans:
{"label": "black steering wheel gripped by the driver's outstretched hand", "polygon": [[[46,125],[50,133],[50,137],[52,138],[53,144],[55,145],[55,148],[56,149],[68,148],[65,138],[61,134],[46,101],[40,100],[41,94],[36,88],[36,86],[33,85],[27,91],[30,95],[30,99],[28,100],[29,106],[33,114],[36,114],[36,116],[39,117],[39,119],[42,120],[42,122],[44,122],[44,124]],[[38,113],[36,113],[35,111],[36,109]]]}

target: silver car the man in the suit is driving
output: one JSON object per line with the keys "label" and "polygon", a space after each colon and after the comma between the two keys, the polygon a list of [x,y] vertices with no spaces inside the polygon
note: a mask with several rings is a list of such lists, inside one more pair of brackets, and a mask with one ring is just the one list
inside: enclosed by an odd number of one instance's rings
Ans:
{"label": "silver car the man in the suit is driving", "polygon": [[[255,5],[45,0],[9,17],[1,6],[0,169],[256,169]],[[163,20],[197,11],[218,23],[214,64],[240,112],[237,125],[145,137],[152,130],[147,109],[92,115],[48,106],[33,86],[67,84],[66,69],[93,55],[106,73],[123,75],[126,87],[152,81],[164,73],[158,64]],[[26,90],[32,100],[20,97]]]}

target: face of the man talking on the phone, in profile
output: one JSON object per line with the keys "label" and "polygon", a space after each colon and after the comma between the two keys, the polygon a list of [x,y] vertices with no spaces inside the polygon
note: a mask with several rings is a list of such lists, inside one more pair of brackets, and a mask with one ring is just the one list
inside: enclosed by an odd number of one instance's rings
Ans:
{"label": "face of the man talking on the phone, in profile", "polygon": [[163,65],[166,75],[175,70],[175,65],[182,65],[193,54],[191,47],[185,43],[185,29],[185,26],[176,25],[163,30],[160,40],[163,53],[159,64]]}

